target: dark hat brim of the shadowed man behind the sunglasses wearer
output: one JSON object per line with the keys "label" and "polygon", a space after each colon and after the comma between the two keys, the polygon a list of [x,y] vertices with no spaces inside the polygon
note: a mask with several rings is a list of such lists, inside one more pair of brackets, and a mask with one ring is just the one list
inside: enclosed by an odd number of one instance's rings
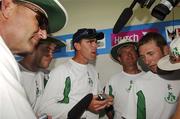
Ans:
{"label": "dark hat brim of the shadowed man behind the sunglasses wearer", "polygon": [[39,43],[54,43],[57,45],[57,48],[65,47],[66,44],[62,40],[56,39],[54,37],[47,37],[47,39],[40,40]]}

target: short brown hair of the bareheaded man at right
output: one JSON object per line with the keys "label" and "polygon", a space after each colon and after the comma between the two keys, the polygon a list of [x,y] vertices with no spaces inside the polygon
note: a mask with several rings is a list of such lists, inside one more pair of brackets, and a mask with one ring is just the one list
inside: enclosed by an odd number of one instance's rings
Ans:
{"label": "short brown hair of the bareheaded man at right", "polygon": [[167,45],[167,41],[165,40],[165,38],[160,33],[148,32],[138,42],[138,49],[139,49],[140,46],[142,46],[142,45],[144,45],[146,43],[149,43],[151,41],[154,41],[162,52],[163,52],[164,46]]}

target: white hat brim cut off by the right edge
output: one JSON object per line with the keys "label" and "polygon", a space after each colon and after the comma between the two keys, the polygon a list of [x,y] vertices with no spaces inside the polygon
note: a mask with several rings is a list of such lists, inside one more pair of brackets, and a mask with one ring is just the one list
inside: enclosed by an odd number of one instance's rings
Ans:
{"label": "white hat brim cut off by the right edge", "polygon": [[158,67],[165,71],[173,71],[180,69],[180,63],[172,64],[169,60],[169,55],[167,55],[159,60]]}

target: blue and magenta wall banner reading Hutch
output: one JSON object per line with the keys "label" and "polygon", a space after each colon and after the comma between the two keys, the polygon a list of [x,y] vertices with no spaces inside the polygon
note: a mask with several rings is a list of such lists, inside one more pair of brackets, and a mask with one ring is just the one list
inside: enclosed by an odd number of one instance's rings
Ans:
{"label": "blue and magenta wall banner reading Hutch", "polygon": [[[105,38],[98,41],[98,54],[109,54],[111,47],[116,45],[123,38],[130,38],[134,41],[139,41],[147,32],[161,33],[169,43],[174,36],[180,36],[180,20],[148,23],[142,25],[127,26],[118,34],[113,34],[112,29],[98,30],[104,32]],[[72,35],[67,34],[57,36],[56,38],[64,40],[67,44],[55,54],[55,58],[72,57],[74,56],[74,49],[72,46]]]}

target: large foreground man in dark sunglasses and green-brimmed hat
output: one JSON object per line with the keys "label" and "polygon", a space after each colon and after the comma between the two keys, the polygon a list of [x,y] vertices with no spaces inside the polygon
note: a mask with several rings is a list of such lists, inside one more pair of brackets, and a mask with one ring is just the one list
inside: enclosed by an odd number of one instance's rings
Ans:
{"label": "large foreground man in dark sunglasses and green-brimmed hat", "polygon": [[0,118],[35,119],[13,54],[32,52],[47,33],[64,27],[67,15],[57,0],[1,0],[0,5]]}

